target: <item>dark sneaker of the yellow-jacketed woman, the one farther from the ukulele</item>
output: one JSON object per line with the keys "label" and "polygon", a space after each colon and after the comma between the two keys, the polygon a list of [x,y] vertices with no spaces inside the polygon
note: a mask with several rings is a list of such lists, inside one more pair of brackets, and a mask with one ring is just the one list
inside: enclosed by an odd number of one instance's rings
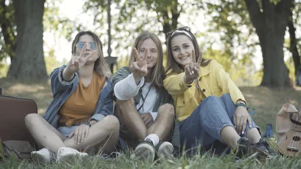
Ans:
{"label": "dark sneaker of the yellow-jacketed woman, the one farther from the ukulele", "polygon": [[268,154],[268,151],[265,148],[258,148],[256,145],[250,143],[249,139],[247,139],[246,137],[241,137],[237,141],[237,146],[237,157],[239,158],[243,156],[253,156],[254,154],[257,154],[259,156]]}

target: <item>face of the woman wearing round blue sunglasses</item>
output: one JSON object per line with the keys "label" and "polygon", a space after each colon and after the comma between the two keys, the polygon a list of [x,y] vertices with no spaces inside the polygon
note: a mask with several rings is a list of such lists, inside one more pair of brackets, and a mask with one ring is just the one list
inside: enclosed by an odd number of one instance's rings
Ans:
{"label": "face of the woman wearing round blue sunglasses", "polygon": [[[90,42],[95,42],[93,37],[90,36],[90,35],[82,35],[80,38],[79,38],[79,42],[84,42],[85,44],[89,44]],[[96,44],[97,46],[97,44]],[[96,48],[97,50],[97,48]],[[86,50],[84,51],[84,57],[87,57],[87,55],[89,55],[93,50],[90,48],[90,46],[88,45]],[[82,49],[78,49],[76,48],[76,52],[75,54],[77,56],[80,56],[82,52]],[[95,62],[98,58],[98,54],[93,54],[93,56],[87,61],[87,62]]]}

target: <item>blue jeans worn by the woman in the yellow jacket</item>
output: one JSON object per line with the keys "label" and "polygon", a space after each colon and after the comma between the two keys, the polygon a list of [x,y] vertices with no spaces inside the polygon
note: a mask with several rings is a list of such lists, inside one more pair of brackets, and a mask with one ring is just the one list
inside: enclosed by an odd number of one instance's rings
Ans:
{"label": "blue jeans worn by the woman in the yellow jacket", "polygon": [[[225,126],[234,128],[235,109],[230,94],[224,94],[220,98],[216,96],[205,98],[187,119],[180,122],[181,147],[193,151],[199,145],[208,147],[216,141],[223,143],[220,131]],[[252,120],[253,127],[260,132],[260,128]],[[240,136],[245,136],[248,130],[250,128],[247,122],[245,132]],[[223,145],[224,148],[227,147]]]}

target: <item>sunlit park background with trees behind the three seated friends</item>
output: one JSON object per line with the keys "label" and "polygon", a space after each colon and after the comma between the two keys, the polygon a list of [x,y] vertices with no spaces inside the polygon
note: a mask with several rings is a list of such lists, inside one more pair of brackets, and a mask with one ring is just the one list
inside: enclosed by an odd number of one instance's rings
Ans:
{"label": "sunlit park background with trees behind the three seated friends", "polygon": [[204,57],[219,62],[256,109],[262,130],[275,129],[284,103],[301,106],[300,11],[299,0],[0,0],[0,88],[35,100],[43,114],[52,100],[49,74],[70,60],[78,32],[99,36],[105,57],[117,57],[115,72],[142,31],[159,36],[166,65],[166,33],[189,26]]}

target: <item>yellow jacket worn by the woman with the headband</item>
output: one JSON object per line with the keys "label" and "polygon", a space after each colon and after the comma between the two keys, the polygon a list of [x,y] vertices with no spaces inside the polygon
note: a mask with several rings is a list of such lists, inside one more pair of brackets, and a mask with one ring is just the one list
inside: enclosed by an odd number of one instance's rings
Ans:
{"label": "yellow jacket worn by the woman with the headband", "polygon": [[[220,97],[223,94],[229,93],[233,103],[241,99],[244,102],[245,99],[226,73],[222,66],[215,60],[212,60],[207,66],[200,67],[200,73],[198,78],[198,85],[200,91],[203,93],[200,95],[200,100],[204,100],[208,96]],[[169,74],[171,70],[167,72]],[[180,74],[171,74],[163,80],[164,88],[168,91],[174,100],[175,112],[179,121],[183,121],[188,118],[193,110],[198,106],[198,102],[195,99],[195,85],[191,85],[184,82],[184,72]]]}

